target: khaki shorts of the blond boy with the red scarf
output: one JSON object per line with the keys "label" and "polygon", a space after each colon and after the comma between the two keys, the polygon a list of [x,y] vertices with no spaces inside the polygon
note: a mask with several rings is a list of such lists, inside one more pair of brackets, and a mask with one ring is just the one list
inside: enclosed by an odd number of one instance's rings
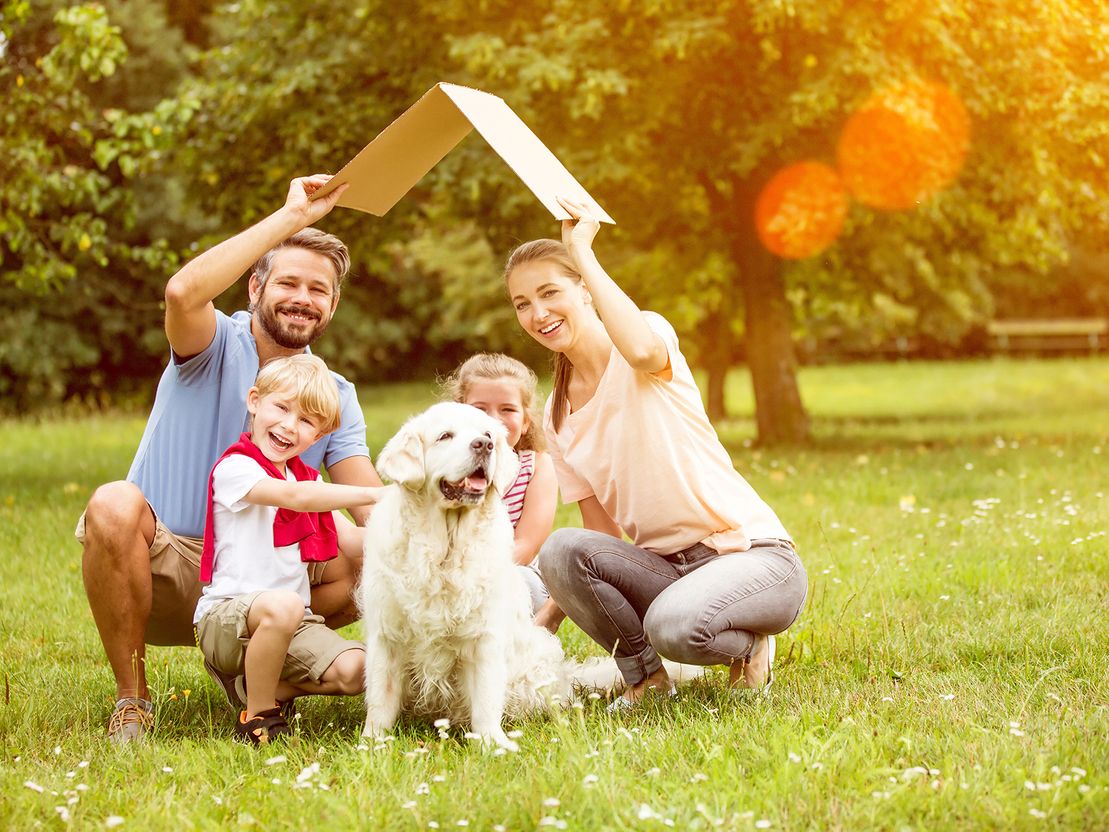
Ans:
{"label": "khaki shorts of the blond boy with the red scarf", "polygon": [[[196,625],[196,642],[204,658],[221,673],[244,672],[246,646],[251,641],[246,616],[261,592],[250,592],[212,606]],[[323,616],[305,616],[293,633],[281,678],[293,684],[318,682],[339,653],[365,649],[327,628]]]}

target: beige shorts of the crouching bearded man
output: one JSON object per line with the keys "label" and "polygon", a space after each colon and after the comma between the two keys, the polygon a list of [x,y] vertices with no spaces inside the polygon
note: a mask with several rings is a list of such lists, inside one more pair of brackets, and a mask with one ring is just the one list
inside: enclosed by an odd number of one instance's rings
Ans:
{"label": "beige shorts of the crouching bearded man", "polygon": [[[147,645],[194,645],[193,612],[201,598],[201,550],[204,540],[174,535],[153,508],[151,514],[154,515],[154,540],[150,545],[152,597],[144,640]],[[83,514],[73,534],[83,546]],[[326,566],[326,561],[307,564],[312,586],[323,580]]]}

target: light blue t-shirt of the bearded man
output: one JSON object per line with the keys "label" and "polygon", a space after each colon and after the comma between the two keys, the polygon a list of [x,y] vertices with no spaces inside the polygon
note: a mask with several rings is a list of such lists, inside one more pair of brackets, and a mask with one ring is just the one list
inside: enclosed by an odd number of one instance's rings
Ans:
{"label": "light blue t-shirt of the bearded man", "polygon": [[[186,537],[204,536],[208,475],[220,455],[250,429],[246,394],[258,374],[250,313],[227,317],[216,311],[215,316],[215,336],[203,353],[180,364],[170,356],[128,473],[128,481],[142,489],[162,522]],[[339,386],[342,425],[301,455],[314,468],[369,456],[354,385],[332,375]]]}

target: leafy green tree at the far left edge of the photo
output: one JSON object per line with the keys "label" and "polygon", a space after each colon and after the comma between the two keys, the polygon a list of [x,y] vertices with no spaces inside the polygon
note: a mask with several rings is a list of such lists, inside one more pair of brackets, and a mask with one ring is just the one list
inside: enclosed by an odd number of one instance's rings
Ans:
{"label": "leafy green tree at the far left edge of the photo", "polygon": [[[126,20],[116,26],[109,17]],[[126,41],[136,47],[130,54]],[[106,395],[156,372],[166,223],[132,187],[187,109],[157,101],[183,71],[157,7],[0,6],[0,335],[4,408]],[[154,54],[166,50],[162,54]],[[113,83],[132,58],[143,82]],[[161,211],[174,213],[164,190]]]}

